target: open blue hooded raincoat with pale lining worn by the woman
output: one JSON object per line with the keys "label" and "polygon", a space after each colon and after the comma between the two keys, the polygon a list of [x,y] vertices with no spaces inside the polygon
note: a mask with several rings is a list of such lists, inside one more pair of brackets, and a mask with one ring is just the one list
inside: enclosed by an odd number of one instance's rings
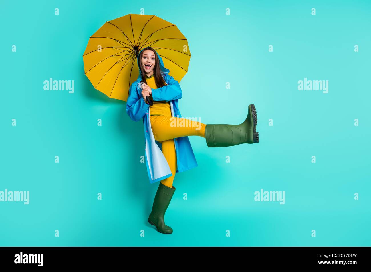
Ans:
{"label": "open blue hooded raincoat with pale lining worn by the woman", "polygon": [[[142,49],[143,50],[143,49]],[[164,67],[162,58],[156,52],[160,60],[160,69],[162,78],[164,78],[167,85],[152,89],[153,101],[170,101],[171,116],[181,117],[178,108],[178,100],[182,97],[182,90],[178,81],[171,75],[169,70]],[[138,55],[139,56],[139,55]],[[138,67],[140,60],[138,58]],[[148,178],[150,183],[154,183],[172,176],[170,167],[162,154],[160,149],[161,143],[156,141],[151,129],[150,121],[150,105],[145,103],[142,97],[142,89],[138,83],[142,81],[141,71],[139,69],[139,76],[134,81],[129,89],[128,101],[126,103],[126,112],[131,120],[137,122],[143,118],[144,124],[144,139],[145,139],[145,164],[147,166]],[[175,152],[177,155],[177,171],[183,172],[197,167],[196,157],[194,157],[193,149],[188,136],[174,138]]]}

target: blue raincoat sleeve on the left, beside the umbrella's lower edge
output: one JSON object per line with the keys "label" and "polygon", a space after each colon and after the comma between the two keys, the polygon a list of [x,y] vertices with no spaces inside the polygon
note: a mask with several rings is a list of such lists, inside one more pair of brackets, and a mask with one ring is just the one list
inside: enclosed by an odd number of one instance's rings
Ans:
{"label": "blue raincoat sleeve on the left, beside the umbrella's lower edge", "polygon": [[126,112],[131,120],[138,122],[147,113],[150,105],[145,103],[142,96],[138,95],[137,86],[135,84],[137,83],[135,82],[130,86],[129,97],[126,103]]}

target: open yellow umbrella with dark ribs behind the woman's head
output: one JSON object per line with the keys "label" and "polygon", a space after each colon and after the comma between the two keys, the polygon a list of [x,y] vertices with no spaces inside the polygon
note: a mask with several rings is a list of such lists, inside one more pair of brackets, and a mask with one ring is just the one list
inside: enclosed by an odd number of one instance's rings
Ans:
{"label": "open yellow umbrella with dark ribs behind the woman's head", "polygon": [[128,14],[107,21],[89,38],[83,54],[85,74],[93,86],[110,98],[127,101],[137,80],[137,57],[152,47],[178,82],[188,71],[188,41],[175,24],[155,15]]}

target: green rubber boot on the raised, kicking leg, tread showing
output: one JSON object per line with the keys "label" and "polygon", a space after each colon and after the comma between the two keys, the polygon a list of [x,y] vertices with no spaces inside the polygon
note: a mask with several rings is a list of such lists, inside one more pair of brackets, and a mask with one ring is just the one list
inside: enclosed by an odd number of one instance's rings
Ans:
{"label": "green rubber boot on the raised, kicking leg, tread showing", "polygon": [[237,144],[255,144],[259,142],[256,132],[257,115],[254,104],[249,105],[246,120],[239,125],[207,124],[205,128],[208,147],[229,147]]}

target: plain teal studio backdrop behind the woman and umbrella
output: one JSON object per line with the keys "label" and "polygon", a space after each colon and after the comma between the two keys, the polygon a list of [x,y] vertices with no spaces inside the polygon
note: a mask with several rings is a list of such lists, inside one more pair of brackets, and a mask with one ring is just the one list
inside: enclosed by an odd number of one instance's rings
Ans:
{"label": "plain teal studio backdrop behind the woman and umbrella", "polygon": [[[323,2],[2,1],[0,191],[30,204],[0,202],[0,246],[370,246],[371,2]],[[140,163],[142,120],[83,67],[89,37],[141,8],[188,39],[183,117],[240,124],[257,108],[259,144],[190,137],[198,167],[175,175],[171,235],[147,223],[158,183]],[[50,77],[75,93],[43,90]],[[328,94],[299,91],[304,77],[329,80]],[[260,189],[286,203],[255,202]]]}

